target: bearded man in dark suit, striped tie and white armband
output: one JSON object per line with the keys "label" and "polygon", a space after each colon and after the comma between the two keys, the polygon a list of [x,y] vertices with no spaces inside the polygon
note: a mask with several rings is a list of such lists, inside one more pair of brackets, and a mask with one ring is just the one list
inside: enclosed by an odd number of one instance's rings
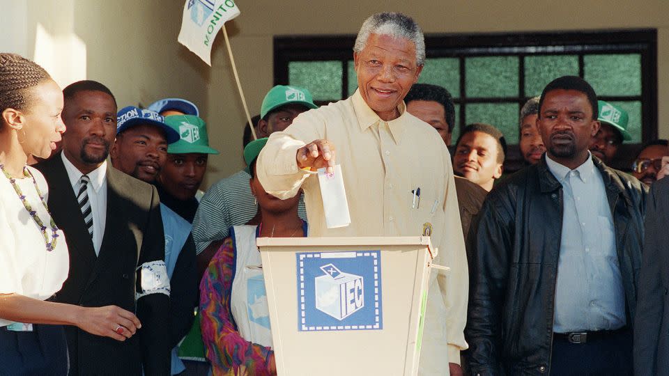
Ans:
{"label": "bearded man in dark suit, striped tie and white armband", "polygon": [[63,95],[63,152],[36,166],[49,183],[49,210],[70,251],[70,275],[56,300],[114,304],[141,321],[125,342],[66,327],[70,375],[141,375],[142,369],[167,375],[169,280],[157,191],[106,162],[116,134],[109,89],[79,81]]}

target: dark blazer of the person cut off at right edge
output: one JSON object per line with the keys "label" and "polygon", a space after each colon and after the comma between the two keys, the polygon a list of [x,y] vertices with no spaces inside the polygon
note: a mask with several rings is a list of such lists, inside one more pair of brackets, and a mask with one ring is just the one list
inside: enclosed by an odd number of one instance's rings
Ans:
{"label": "dark blazer of the person cut off at right edge", "polygon": [[646,205],[643,263],[634,322],[634,375],[669,375],[669,178]]}

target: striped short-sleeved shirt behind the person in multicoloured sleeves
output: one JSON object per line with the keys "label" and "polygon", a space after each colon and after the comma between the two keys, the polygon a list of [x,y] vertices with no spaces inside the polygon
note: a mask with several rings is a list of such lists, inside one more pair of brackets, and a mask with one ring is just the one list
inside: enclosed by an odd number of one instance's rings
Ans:
{"label": "striped short-sleeved shirt behind the person in multicoloured sleeves", "polygon": [[[231,226],[246,224],[258,212],[249,180],[251,175],[242,170],[221,179],[204,194],[193,220],[193,240],[197,254],[211,243],[224,240]],[[298,215],[307,220],[304,197],[298,204]]]}

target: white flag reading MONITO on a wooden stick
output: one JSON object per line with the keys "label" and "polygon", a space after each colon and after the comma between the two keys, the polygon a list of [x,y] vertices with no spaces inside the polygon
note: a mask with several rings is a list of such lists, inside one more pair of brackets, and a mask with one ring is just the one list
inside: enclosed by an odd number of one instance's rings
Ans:
{"label": "white flag reading MONITO on a wooden stick", "polygon": [[211,46],[218,31],[239,13],[233,0],[186,0],[178,41],[211,65]]}

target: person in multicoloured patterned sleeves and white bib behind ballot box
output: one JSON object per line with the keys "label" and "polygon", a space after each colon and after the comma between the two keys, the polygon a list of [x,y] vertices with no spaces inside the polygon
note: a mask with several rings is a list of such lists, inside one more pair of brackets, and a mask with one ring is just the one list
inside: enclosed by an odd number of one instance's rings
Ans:
{"label": "person in multicoloured patterned sleeves and white bib behind ballot box", "polygon": [[233,226],[200,283],[202,339],[214,375],[277,373],[256,237],[305,237],[307,223],[298,216],[300,195],[280,200],[256,178],[256,157],[266,142],[252,141],[244,149],[261,224]]}

